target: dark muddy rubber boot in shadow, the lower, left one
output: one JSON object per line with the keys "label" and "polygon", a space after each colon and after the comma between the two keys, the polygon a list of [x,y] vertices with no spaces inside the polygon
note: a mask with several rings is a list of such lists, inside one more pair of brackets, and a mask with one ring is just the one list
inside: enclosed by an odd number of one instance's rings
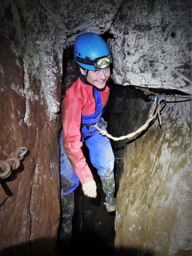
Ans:
{"label": "dark muddy rubber boot in shadow, the lower, left one", "polygon": [[72,238],[72,218],[74,213],[74,192],[61,194],[61,224],[59,241],[62,244],[69,244]]}

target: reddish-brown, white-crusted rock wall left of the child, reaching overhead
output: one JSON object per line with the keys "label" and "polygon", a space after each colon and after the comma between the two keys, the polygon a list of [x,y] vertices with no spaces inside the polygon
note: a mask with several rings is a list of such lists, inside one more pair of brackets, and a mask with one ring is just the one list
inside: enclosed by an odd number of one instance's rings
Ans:
{"label": "reddish-brown, white-crusted rock wall left of the child, reaching overhead", "polygon": [[3,256],[57,253],[62,54],[78,33],[109,29],[118,8],[117,1],[0,1],[0,160],[28,148],[0,179]]}

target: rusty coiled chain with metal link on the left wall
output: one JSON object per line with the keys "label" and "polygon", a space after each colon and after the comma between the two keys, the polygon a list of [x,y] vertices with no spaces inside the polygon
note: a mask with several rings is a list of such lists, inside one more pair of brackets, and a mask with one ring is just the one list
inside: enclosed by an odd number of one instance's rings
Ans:
{"label": "rusty coiled chain with metal link on the left wall", "polygon": [[20,166],[20,161],[23,160],[24,155],[27,152],[26,147],[20,147],[16,151],[12,152],[8,159],[0,160],[0,178],[6,179],[12,174],[12,171]]}

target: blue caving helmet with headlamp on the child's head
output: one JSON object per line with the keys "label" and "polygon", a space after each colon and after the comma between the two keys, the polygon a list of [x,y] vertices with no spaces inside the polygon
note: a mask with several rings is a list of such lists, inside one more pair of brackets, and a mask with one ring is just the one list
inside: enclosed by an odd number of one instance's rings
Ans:
{"label": "blue caving helmet with headlamp on the child's head", "polygon": [[78,35],[74,42],[75,61],[87,70],[109,67],[112,58],[108,44],[98,34],[85,32]]}

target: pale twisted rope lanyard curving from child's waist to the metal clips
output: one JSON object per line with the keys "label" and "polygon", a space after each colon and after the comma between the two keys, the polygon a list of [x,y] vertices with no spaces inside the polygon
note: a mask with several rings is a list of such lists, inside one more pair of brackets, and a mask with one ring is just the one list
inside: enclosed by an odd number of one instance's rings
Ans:
{"label": "pale twisted rope lanyard curving from child's waist to the metal clips", "polygon": [[[159,122],[160,122],[160,125],[161,125],[161,117],[160,117],[160,111],[161,111],[161,109],[162,109],[162,105],[157,105],[157,104],[153,104],[152,106],[151,106],[151,108],[152,108],[152,112],[151,112],[151,115],[149,116],[149,118],[148,118],[148,120],[147,120],[147,122],[143,125],[143,126],[141,126],[137,131],[135,131],[135,132],[132,132],[131,134],[128,134],[128,135],[126,135],[126,136],[121,136],[121,137],[113,137],[113,136],[111,136],[111,134],[108,134],[108,131],[106,131],[106,130],[102,130],[102,129],[100,129],[98,126],[97,126],[97,124],[96,125],[91,125],[92,127],[94,127],[94,128],[96,128],[98,131],[99,131],[99,133],[100,134],[102,134],[103,136],[107,136],[109,139],[112,139],[112,140],[115,140],[115,141],[118,141],[118,140],[125,140],[125,139],[131,139],[131,137],[133,137],[135,134],[138,134],[138,133],[140,133],[141,131],[143,131],[143,130],[145,130],[147,127],[148,127],[148,125],[149,125],[149,123],[158,115],[158,117],[159,117]],[[155,112],[155,114],[153,114],[154,113],[154,111],[155,111],[155,109],[156,109],[156,112]]]}

